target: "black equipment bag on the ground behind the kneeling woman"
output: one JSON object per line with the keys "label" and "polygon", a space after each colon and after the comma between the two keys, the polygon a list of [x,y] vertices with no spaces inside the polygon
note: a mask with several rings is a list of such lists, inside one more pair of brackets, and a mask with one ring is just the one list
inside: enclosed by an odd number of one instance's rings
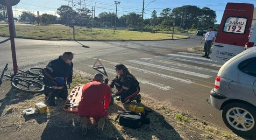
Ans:
{"label": "black equipment bag on the ground behind the kneeling woman", "polygon": [[119,119],[119,124],[121,126],[127,126],[130,128],[138,128],[142,124],[150,124],[149,118],[146,115],[137,115],[135,112],[121,112],[115,119]]}

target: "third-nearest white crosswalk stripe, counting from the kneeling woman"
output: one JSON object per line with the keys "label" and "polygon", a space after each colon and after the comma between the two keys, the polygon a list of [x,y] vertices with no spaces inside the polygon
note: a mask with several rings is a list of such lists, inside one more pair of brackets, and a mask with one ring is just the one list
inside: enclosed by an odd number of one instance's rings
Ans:
{"label": "third-nearest white crosswalk stripe, counting from the kneeling woman", "polygon": [[212,76],[201,74],[201,73],[196,73],[196,72],[186,71],[186,70],[180,70],[180,69],[165,67],[165,66],[151,64],[151,63],[145,63],[145,62],[136,61],[136,60],[128,60],[128,62],[138,63],[138,64],[150,66],[150,67],[155,67],[155,68],[169,70],[169,71],[174,71],[174,72],[179,72],[179,73],[184,73],[184,74],[192,75],[192,76],[196,76],[196,77],[202,77],[202,78],[210,78],[210,77],[212,77]]}

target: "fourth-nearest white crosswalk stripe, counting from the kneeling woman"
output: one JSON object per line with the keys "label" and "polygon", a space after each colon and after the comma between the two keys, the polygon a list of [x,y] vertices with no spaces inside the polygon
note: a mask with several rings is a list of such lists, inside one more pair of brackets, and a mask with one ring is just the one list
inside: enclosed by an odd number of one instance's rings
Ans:
{"label": "fourth-nearest white crosswalk stripe, counting from the kneeling woman", "polygon": [[197,70],[204,70],[204,71],[209,71],[209,72],[213,72],[213,73],[218,73],[218,70],[213,70],[213,69],[208,69],[208,68],[203,68],[203,67],[198,67],[198,66],[193,66],[193,65],[174,63],[174,62],[163,61],[163,60],[156,60],[156,59],[152,59],[152,58],[142,58],[142,59],[153,61],[153,62],[167,63],[167,64],[182,66],[182,67],[186,67],[186,68],[192,68],[192,69],[197,69]]}

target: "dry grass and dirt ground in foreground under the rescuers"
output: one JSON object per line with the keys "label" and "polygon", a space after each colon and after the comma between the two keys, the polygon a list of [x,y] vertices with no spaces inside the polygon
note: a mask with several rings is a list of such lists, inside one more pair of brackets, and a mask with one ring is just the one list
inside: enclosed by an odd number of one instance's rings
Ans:
{"label": "dry grass and dirt ground in foreground under the rescuers", "polygon": [[[80,77],[80,76],[78,76]],[[85,78],[74,78],[72,87],[88,82]],[[4,81],[8,83],[8,81]],[[1,87],[2,89],[2,87]],[[64,112],[64,100],[57,100],[56,107],[49,107],[45,114],[24,116],[22,111],[33,107],[35,103],[45,102],[43,93],[28,94],[11,89],[10,83],[5,84],[5,90],[0,91],[0,136],[1,139],[34,140],[34,139],[99,139],[99,140],[204,140],[204,139],[240,139],[234,134],[194,118],[184,112],[179,112],[171,105],[163,105],[142,94],[142,103],[130,104],[150,108],[150,125],[137,129],[120,126],[118,122],[109,120],[100,135],[89,131],[86,137],[79,133],[80,118],[75,113]],[[8,90],[9,91],[8,91]],[[7,92],[6,92],[7,91]],[[4,96],[2,96],[4,95]],[[115,119],[120,112],[128,110],[129,104],[114,101],[107,109],[110,119]],[[225,133],[227,137],[221,134]]]}

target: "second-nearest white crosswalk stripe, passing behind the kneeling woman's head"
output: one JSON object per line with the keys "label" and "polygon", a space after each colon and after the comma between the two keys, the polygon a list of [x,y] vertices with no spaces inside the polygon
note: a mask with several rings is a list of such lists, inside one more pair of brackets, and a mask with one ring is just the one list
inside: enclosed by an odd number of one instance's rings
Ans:
{"label": "second-nearest white crosswalk stripe, passing behind the kneeling woman's head", "polygon": [[[93,58],[93,57],[88,57],[88,58],[97,59],[97,58]],[[105,61],[105,62],[111,63],[113,65],[119,64],[119,63],[110,62],[110,61],[102,60],[102,59],[100,59],[100,61]],[[172,79],[172,80],[179,81],[179,82],[186,83],[186,84],[193,83],[190,79],[182,79],[182,78],[173,77],[173,76],[170,76],[170,75],[165,75],[165,74],[162,74],[162,73],[157,73],[157,72],[154,72],[154,71],[139,69],[139,68],[135,68],[133,66],[129,66],[127,64],[126,64],[126,66],[130,69],[134,69],[134,70],[144,72],[144,73],[147,73],[147,74],[151,74],[151,75],[155,75],[155,76],[158,76],[158,77],[163,77],[163,78],[166,78],[166,79]]]}

